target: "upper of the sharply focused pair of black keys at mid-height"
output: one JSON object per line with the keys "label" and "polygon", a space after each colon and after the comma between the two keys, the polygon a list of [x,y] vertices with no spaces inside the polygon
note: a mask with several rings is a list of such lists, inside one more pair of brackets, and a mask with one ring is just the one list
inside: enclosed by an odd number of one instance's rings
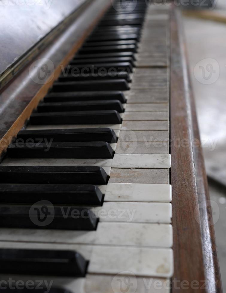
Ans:
{"label": "upper of the sharply focused pair of black keys at mid-height", "polygon": [[80,128],[80,129],[46,129],[21,130],[16,142],[73,142],[73,141],[106,141],[116,143],[117,137],[111,128]]}

